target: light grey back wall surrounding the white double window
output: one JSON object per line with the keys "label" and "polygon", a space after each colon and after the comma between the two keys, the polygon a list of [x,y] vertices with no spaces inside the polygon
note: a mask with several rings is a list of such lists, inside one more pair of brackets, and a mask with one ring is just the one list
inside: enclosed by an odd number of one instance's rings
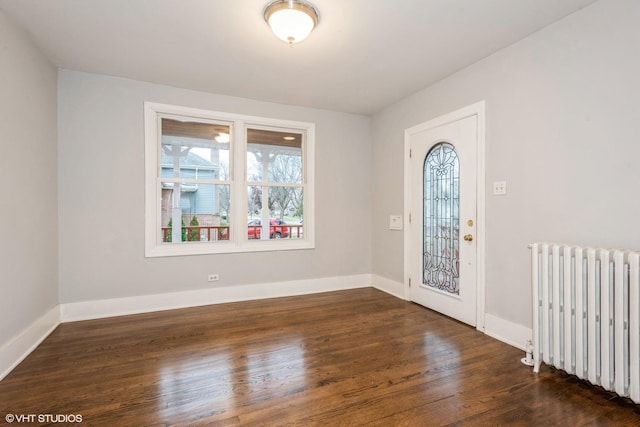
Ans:
{"label": "light grey back wall surrounding the white double window", "polygon": [[[145,259],[144,101],[316,123],[316,249]],[[68,70],[58,114],[62,303],[371,272],[370,118]]]}

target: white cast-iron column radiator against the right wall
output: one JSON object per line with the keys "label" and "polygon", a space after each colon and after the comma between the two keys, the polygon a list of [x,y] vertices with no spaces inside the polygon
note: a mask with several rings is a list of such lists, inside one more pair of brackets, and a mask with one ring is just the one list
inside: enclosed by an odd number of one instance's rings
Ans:
{"label": "white cast-iron column radiator against the right wall", "polygon": [[533,363],[640,403],[640,252],[535,243]]}

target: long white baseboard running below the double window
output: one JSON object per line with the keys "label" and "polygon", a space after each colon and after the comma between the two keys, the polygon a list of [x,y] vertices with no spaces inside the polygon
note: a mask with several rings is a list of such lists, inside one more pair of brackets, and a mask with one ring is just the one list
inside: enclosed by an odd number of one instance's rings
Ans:
{"label": "long white baseboard running below the double window", "polygon": [[199,289],[60,305],[62,322],[371,286],[370,274]]}

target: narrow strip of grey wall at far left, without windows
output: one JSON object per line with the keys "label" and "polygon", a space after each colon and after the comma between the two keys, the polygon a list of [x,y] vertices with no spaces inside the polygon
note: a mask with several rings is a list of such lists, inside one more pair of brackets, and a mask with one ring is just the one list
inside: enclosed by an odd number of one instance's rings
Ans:
{"label": "narrow strip of grey wall at far left, without windows", "polygon": [[56,85],[0,10],[0,378],[8,348],[58,304]]}

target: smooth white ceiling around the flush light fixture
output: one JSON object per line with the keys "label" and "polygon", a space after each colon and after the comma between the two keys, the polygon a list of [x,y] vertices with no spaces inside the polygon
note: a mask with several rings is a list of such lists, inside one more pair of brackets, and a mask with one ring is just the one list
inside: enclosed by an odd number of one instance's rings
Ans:
{"label": "smooth white ceiling around the flush light fixture", "polygon": [[314,0],[293,47],[267,0],[0,0],[59,67],[372,114],[595,0]]}

